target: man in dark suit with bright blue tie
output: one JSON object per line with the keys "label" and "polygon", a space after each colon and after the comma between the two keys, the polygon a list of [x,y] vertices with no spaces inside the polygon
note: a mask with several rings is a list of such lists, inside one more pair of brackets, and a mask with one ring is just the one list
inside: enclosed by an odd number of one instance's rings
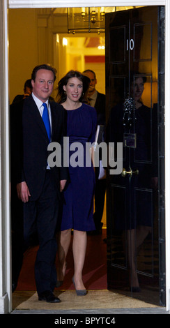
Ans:
{"label": "man in dark suit with bright blue tie", "polygon": [[[60,301],[53,293],[56,285],[55,230],[60,193],[68,179],[67,167],[49,167],[47,163],[49,142],[61,144],[61,156],[63,154],[64,110],[61,105],[49,101],[55,79],[56,70],[52,66],[36,66],[31,75],[33,92],[23,101],[22,112],[20,106],[15,109],[15,119],[11,122],[15,183],[17,195],[23,202],[24,243],[25,247],[30,246],[33,235],[38,235],[35,263],[38,299],[51,303]],[[45,110],[49,131],[43,121]]]}

